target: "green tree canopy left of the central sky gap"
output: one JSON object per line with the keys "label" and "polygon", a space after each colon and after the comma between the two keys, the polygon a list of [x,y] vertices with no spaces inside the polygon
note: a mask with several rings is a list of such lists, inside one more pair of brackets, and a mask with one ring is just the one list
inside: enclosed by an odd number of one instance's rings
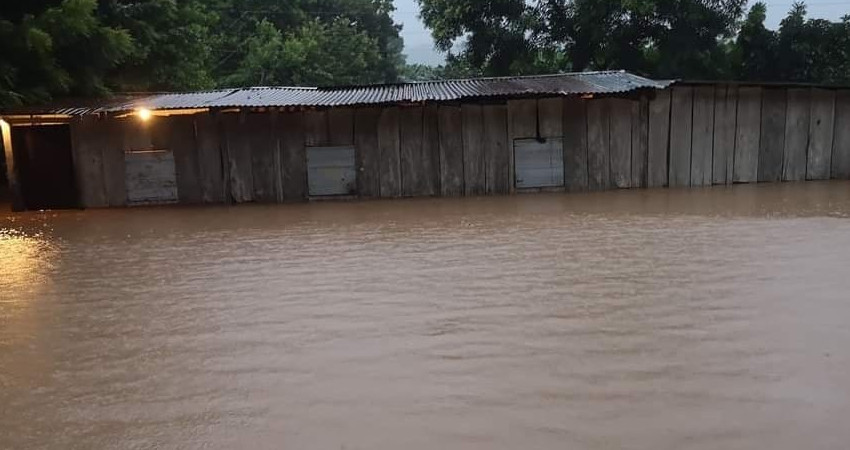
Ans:
{"label": "green tree canopy left of the central sky gap", "polygon": [[394,82],[391,0],[0,2],[0,106],[60,96]]}

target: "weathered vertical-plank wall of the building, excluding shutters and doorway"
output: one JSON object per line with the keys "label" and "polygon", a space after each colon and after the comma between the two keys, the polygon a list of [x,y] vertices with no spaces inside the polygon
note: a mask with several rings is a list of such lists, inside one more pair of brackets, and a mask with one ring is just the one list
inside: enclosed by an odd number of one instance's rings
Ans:
{"label": "weathered vertical-plank wall of the building, excluding shutters and doorway", "polygon": [[146,150],[173,154],[184,204],[307,200],[307,148],[335,146],[354,147],[360,198],[516,192],[523,139],[560,146],[554,189],[570,192],[850,178],[847,90],[678,84],[621,98],[86,116],[71,130],[88,207],[126,205],[125,153]]}

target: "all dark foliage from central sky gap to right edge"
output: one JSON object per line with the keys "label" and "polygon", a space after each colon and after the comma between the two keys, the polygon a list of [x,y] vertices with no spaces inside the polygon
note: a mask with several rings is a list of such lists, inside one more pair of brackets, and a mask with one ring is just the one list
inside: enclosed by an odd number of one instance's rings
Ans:
{"label": "all dark foliage from central sky gap to right edge", "polygon": [[513,75],[625,69],[656,78],[838,82],[850,19],[807,20],[795,4],[778,31],[746,0],[418,0],[446,70]]}

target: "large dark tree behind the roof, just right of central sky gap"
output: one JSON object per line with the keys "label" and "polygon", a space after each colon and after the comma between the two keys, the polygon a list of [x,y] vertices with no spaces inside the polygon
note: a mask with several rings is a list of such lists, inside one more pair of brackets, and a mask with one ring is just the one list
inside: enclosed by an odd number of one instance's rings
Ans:
{"label": "large dark tree behind the roof, just right of central sky gap", "polygon": [[[723,75],[746,0],[418,0],[438,48],[484,73]],[[720,69],[720,70],[719,70]]]}

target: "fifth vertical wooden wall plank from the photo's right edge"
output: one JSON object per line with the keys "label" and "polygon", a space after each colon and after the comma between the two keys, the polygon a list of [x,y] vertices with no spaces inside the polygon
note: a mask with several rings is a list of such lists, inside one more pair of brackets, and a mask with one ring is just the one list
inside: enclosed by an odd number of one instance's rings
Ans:
{"label": "fifth vertical wooden wall plank from the photo's right edge", "polygon": [[738,123],[735,127],[735,170],[733,182],[758,180],[759,140],[761,138],[761,88],[738,89]]}

